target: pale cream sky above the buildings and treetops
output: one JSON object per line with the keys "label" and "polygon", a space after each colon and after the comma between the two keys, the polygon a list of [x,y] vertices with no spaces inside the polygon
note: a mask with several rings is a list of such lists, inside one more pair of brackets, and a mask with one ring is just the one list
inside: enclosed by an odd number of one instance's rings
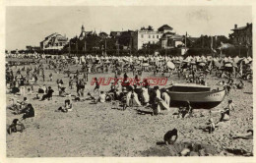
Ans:
{"label": "pale cream sky above the buildings and treetops", "polygon": [[137,7],[7,7],[6,49],[39,46],[53,32],[72,38],[84,25],[87,31],[140,29],[162,25],[177,34],[191,36],[225,35],[252,23],[251,7],[246,6],[137,6]]}

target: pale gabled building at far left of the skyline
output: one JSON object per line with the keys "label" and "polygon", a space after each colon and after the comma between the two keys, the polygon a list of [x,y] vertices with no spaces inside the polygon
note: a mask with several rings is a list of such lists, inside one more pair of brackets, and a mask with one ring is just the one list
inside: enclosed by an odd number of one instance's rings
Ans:
{"label": "pale gabled building at far left of the skyline", "polygon": [[57,32],[46,36],[43,41],[40,42],[41,50],[61,50],[68,43],[68,38]]}

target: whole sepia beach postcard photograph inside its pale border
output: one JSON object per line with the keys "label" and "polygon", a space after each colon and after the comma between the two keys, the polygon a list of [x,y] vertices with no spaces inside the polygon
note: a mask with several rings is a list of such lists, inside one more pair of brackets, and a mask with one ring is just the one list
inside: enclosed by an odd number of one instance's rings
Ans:
{"label": "whole sepia beach postcard photograph inside its pale border", "polygon": [[7,158],[254,156],[252,6],[7,6],[4,55]]}

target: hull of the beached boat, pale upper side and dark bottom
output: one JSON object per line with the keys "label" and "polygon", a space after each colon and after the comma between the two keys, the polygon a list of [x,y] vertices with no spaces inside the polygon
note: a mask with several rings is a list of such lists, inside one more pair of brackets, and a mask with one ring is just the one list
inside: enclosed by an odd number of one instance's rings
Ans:
{"label": "hull of the beached boat, pale upper side and dark bottom", "polygon": [[169,91],[170,106],[184,106],[189,101],[192,108],[211,109],[218,106],[223,100],[225,89],[205,92],[177,92]]}

